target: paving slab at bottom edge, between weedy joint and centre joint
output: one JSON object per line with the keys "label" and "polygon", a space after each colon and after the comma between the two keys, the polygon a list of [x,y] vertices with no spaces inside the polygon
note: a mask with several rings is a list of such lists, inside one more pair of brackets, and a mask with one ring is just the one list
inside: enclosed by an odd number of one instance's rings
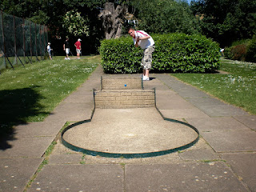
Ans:
{"label": "paving slab at bottom edge, between weedy joint and centre joint", "polygon": [[123,191],[120,165],[47,165],[28,192],[34,191]]}

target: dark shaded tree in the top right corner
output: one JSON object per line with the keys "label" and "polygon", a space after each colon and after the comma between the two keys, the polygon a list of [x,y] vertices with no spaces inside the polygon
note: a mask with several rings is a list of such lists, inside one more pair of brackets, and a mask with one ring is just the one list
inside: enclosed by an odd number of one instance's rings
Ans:
{"label": "dark shaded tree in the top right corner", "polygon": [[222,46],[256,33],[256,1],[195,0],[191,10],[201,18],[202,33]]}

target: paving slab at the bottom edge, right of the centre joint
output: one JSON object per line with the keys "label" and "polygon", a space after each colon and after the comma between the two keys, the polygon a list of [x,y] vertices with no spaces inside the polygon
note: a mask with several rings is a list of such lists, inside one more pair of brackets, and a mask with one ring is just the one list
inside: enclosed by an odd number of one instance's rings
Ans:
{"label": "paving slab at the bottom edge, right of the centre joint", "polygon": [[223,162],[126,165],[126,192],[248,191]]}

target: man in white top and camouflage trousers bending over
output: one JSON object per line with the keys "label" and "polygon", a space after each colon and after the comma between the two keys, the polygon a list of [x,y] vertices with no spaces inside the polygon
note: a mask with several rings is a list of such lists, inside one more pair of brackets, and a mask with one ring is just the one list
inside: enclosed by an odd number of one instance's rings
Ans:
{"label": "man in white top and camouflage trousers bending over", "polygon": [[134,30],[129,28],[128,34],[133,38],[134,45],[140,46],[143,52],[142,67],[143,67],[143,81],[150,80],[150,68],[152,65],[152,53],[154,52],[154,40],[144,30]]}

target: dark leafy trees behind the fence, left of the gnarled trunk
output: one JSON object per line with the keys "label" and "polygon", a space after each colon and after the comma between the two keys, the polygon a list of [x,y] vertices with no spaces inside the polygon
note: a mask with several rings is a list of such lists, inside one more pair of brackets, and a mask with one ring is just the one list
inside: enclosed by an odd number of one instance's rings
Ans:
{"label": "dark leafy trees behind the fence, left of the gnarled trunk", "polygon": [[[38,24],[44,24],[48,26],[49,37],[54,48],[54,54],[58,54],[57,51],[62,51],[59,47],[62,46],[63,40],[57,40],[56,37],[61,37],[65,39],[66,36],[70,37],[70,42],[73,39],[77,39],[75,30],[69,30],[69,27],[64,23],[66,13],[72,10],[80,13],[80,20],[82,24],[85,24],[86,30],[83,26],[79,26],[78,22],[76,27],[82,29],[84,35],[83,40],[85,40],[86,48],[89,53],[98,49],[99,39],[102,38],[102,22],[98,20],[98,13],[102,9],[101,7],[106,2],[106,0],[1,0],[0,10],[3,10],[7,14],[14,14],[20,18],[30,19],[32,22]],[[67,21],[66,21],[67,22]],[[90,31],[90,38],[87,37],[87,33]],[[83,48],[83,53],[86,49]],[[59,53],[59,54],[62,54]]]}

